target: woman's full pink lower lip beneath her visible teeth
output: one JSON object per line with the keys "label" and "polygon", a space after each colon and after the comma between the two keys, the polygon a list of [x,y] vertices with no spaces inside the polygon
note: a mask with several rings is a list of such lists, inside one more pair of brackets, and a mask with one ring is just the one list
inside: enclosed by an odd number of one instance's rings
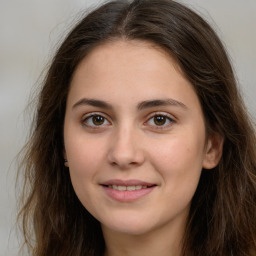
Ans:
{"label": "woman's full pink lower lip beneath her visible teeth", "polygon": [[105,187],[103,186],[105,192],[109,197],[112,199],[115,199],[120,202],[132,202],[135,201],[141,197],[146,196],[149,194],[156,186],[148,187],[148,188],[142,188],[138,190],[125,190],[125,191],[119,191],[113,188]]}

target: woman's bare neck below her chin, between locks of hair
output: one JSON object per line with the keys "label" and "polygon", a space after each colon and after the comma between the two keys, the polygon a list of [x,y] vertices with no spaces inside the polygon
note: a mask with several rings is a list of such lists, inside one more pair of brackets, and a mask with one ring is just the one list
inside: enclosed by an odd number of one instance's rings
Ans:
{"label": "woman's bare neck below her chin, between locks of hair", "polygon": [[120,233],[103,227],[106,244],[104,256],[180,256],[184,223],[170,228],[169,225],[139,235]]}

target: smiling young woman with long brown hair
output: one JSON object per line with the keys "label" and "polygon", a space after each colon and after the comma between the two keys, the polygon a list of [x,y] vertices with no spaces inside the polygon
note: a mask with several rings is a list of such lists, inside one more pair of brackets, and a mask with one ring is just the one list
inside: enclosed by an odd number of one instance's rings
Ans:
{"label": "smiling young woman with long brown hair", "polygon": [[220,40],[187,7],[87,15],[34,124],[20,212],[31,255],[255,255],[255,132]]}

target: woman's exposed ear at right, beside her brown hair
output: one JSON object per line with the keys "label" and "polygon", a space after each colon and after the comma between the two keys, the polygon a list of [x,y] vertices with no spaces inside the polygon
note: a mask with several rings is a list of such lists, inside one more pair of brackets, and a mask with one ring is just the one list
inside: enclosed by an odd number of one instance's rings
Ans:
{"label": "woman's exposed ear at right, beside her brown hair", "polygon": [[224,138],[219,133],[213,132],[209,135],[203,160],[204,169],[212,169],[218,165],[222,156],[223,143]]}

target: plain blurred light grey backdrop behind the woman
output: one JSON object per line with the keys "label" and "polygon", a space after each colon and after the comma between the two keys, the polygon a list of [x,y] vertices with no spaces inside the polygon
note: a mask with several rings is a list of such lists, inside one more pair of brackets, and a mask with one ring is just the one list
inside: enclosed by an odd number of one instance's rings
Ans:
{"label": "plain blurred light grey backdrop behind the woman", "polygon": [[[102,1],[101,1],[102,2]],[[183,0],[223,40],[256,117],[256,1]],[[72,25],[96,0],[0,0],[0,256],[18,253],[15,156],[25,142],[30,92]],[[27,112],[30,113],[30,112]]]}

